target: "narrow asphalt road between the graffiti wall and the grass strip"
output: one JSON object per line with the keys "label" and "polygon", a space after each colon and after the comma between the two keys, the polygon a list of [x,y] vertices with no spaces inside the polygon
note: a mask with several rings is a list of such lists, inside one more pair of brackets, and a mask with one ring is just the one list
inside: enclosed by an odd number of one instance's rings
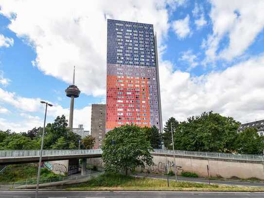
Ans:
{"label": "narrow asphalt road between the graffiti wall and the grass strip", "polygon": [[[137,174],[138,177],[146,177],[146,174]],[[167,180],[167,176],[163,175],[148,175],[148,178],[164,179]],[[170,180],[175,180],[175,177],[169,177]],[[197,178],[183,178],[178,177],[179,181],[191,181],[199,183],[208,183],[208,180],[197,179]],[[222,180],[211,180],[211,184],[222,184],[222,185],[234,185],[234,186],[251,186],[251,187],[264,187],[263,182],[248,182],[248,181],[222,181]]]}

